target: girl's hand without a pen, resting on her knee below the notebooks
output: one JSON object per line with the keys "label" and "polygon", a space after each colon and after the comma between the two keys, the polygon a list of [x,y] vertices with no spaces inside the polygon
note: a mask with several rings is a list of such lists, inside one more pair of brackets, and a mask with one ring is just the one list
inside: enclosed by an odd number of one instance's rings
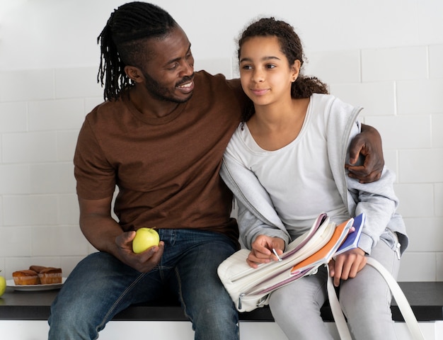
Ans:
{"label": "girl's hand without a pen, resting on her knee below the notebooks", "polygon": [[350,249],[328,263],[329,273],[334,278],[335,287],[340,285],[340,279],[347,280],[357,276],[357,273],[366,266],[367,259],[365,254],[362,249]]}

